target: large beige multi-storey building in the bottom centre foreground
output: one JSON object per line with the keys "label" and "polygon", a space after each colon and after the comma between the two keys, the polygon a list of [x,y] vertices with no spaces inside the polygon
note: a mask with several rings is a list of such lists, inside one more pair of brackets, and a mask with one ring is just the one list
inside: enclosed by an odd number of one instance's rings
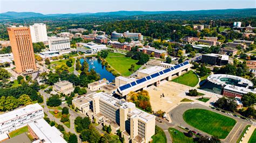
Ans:
{"label": "large beige multi-storey building in the bottom centre foreground", "polygon": [[72,101],[74,108],[111,126],[112,133],[122,132],[125,142],[149,142],[154,135],[156,117],[136,108],[131,102],[114,98],[104,92],[92,93]]}

